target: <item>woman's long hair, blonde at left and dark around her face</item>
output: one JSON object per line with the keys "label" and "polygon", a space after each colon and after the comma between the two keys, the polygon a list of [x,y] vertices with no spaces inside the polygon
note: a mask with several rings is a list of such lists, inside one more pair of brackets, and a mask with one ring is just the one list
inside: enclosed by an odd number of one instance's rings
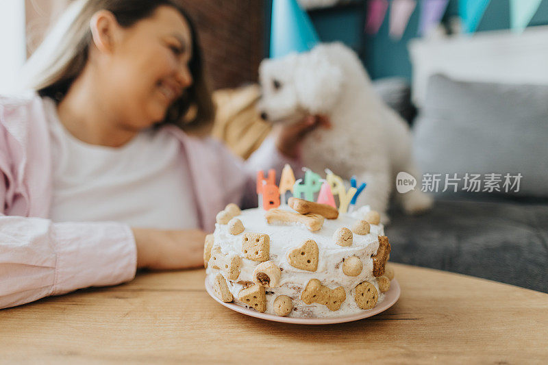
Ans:
{"label": "woman's long hair, blonde at left and dark around her face", "polygon": [[173,0],[73,1],[25,64],[25,88],[59,103],[88,62],[92,42],[90,20],[93,14],[99,10],[108,10],[122,27],[131,27],[152,16],[162,5],[177,9],[190,26],[192,58],[188,68],[194,81],[182,97],[171,105],[166,118],[158,125],[173,124],[195,134],[208,133],[214,118],[214,105],[203,70],[196,28],[184,9]]}

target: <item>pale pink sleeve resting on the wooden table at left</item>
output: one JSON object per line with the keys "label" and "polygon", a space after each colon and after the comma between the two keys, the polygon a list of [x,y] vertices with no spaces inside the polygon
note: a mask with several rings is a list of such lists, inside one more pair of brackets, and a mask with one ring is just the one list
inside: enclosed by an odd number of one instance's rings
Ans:
{"label": "pale pink sleeve resting on the wooden table at left", "polygon": [[0,216],[0,308],[134,278],[129,226]]}

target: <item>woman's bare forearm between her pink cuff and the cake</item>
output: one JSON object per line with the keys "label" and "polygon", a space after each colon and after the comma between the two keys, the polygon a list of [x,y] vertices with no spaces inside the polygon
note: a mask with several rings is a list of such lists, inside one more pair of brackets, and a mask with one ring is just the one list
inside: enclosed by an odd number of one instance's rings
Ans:
{"label": "woman's bare forearm between her pink cuff and the cake", "polygon": [[203,266],[203,241],[200,229],[164,231],[132,228],[137,246],[137,267],[175,270]]}

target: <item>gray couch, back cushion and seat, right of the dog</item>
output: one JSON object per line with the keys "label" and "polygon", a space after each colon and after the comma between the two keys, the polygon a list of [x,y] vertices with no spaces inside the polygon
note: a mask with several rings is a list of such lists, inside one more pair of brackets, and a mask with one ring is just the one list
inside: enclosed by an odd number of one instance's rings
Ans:
{"label": "gray couch, back cushion and seat, right of the dog", "polygon": [[[391,83],[393,92],[383,85],[391,106],[410,108],[408,99],[395,101],[407,95],[401,81]],[[413,127],[423,172],[521,173],[523,180],[511,194],[462,192],[461,183],[458,192],[438,192],[421,216],[392,207],[390,260],[548,292],[548,86],[435,76]]]}

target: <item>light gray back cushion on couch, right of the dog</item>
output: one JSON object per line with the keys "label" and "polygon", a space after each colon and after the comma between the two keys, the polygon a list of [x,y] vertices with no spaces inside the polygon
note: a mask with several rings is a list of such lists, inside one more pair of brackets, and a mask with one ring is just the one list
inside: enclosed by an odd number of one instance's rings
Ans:
{"label": "light gray back cushion on couch, right of the dog", "polygon": [[518,195],[548,197],[548,86],[435,75],[414,133],[423,173],[521,173]]}

